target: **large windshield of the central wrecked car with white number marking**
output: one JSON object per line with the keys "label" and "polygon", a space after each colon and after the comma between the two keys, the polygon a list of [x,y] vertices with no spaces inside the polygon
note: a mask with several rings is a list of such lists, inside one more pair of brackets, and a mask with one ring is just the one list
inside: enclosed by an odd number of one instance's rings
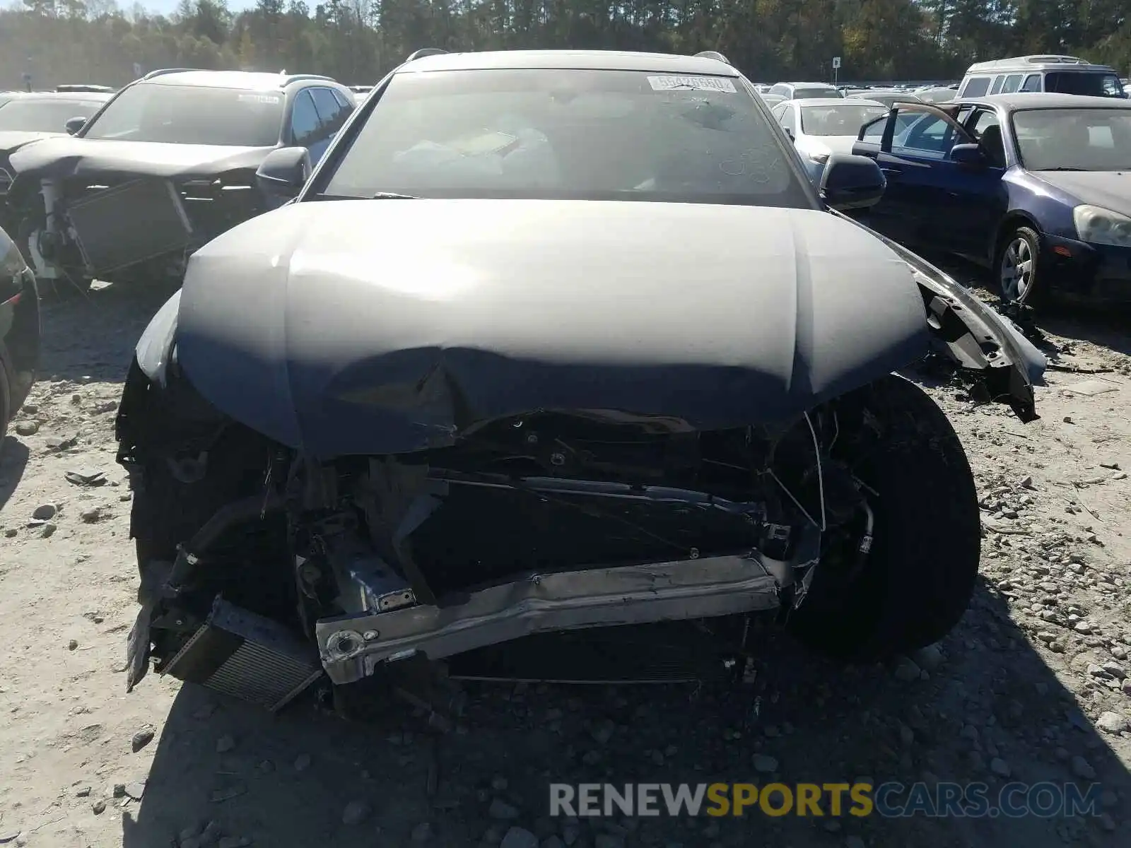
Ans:
{"label": "large windshield of the central wrecked car with white number marking", "polygon": [[396,75],[325,194],[811,206],[732,77],[489,69]]}

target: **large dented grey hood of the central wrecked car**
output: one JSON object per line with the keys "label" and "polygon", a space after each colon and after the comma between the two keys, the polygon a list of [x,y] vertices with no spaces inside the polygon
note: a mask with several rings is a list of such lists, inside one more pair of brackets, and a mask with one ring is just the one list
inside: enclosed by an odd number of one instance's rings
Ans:
{"label": "large dented grey hood of the central wrecked car", "polygon": [[533,410],[782,421],[927,345],[906,262],[827,213],[385,199],[286,206],[199,250],[176,357],[217,408],[328,458]]}

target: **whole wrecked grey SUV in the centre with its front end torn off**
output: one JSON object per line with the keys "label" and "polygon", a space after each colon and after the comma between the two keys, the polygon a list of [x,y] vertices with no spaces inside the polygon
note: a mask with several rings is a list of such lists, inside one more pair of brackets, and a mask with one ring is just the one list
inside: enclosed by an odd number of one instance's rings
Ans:
{"label": "whole wrecked grey SUV in the centre with its front end torn off", "polygon": [[[277,709],[547,632],[938,640],[974,481],[922,360],[1035,417],[1012,326],[818,194],[711,57],[428,51],[197,251],[118,417],[157,672]],[[743,628],[739,628],[740,631]],[[613,631],[602,631],[613,632]]]}

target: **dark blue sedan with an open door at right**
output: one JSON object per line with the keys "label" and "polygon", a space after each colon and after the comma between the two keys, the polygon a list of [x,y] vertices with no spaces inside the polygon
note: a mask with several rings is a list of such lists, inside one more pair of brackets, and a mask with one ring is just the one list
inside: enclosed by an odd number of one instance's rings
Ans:
{"label": "dark blue sedan with an open door at right", "polygon": [[1009,94],[896,103],[853,153],[888,180],[869,226],[994,270],[1002,300],[1131,303],[1131,103]]}

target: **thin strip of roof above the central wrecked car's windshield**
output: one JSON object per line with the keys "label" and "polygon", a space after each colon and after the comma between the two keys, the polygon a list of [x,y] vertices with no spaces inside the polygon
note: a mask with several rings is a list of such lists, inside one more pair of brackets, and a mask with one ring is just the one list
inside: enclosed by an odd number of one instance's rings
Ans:
{"label": "thin strip of roof above the central wrecked car's windshield", "polygon": [[663,73],[709,73],[737,77],[726,62],[673,53],[634,53],[623,50],[491,50],[474,53],[438,53],[406,62],[398,73],[491,68],[556,68],[642,70]]}

